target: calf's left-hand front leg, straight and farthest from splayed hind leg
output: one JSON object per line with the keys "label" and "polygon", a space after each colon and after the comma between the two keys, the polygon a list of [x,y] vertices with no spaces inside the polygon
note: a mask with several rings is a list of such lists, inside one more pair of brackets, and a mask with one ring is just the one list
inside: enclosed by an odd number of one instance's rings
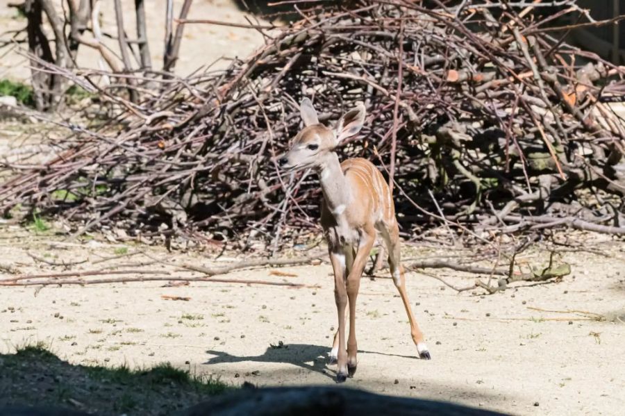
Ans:
{"label": "calf's left-hand front leg, straight and farthest from splayed hind leg", "polygon": [[347,351],[345,350],[345,307],[347,306],[347,287],[345,285],[345,256],[336,249],[330,249],[330,262],[334,269],[334,299],[338,313],[338,351],[336,381],[347,379]]}

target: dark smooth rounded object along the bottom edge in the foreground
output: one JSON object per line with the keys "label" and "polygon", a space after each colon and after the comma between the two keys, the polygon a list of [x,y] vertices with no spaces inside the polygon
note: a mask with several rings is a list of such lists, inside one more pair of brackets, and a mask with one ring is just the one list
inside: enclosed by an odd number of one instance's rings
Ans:
{"label": "dark smooth rounded object along the bottom edge in the foreground", "polygon": [[338,387],[244,389],[216,400],[199,403],[181,416],[456,416],[503,415],[442,401],[383,396]]}

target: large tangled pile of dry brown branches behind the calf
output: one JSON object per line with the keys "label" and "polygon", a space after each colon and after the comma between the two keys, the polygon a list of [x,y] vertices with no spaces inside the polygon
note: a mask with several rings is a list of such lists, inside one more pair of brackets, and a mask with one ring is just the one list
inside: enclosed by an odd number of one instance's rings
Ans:
{"label": "large tangled pile of dry brown branches behind the calf", "polygon": [[[408,238],[436,224],[480,239],[556,226],[625,234],[625,126],[610,103],[625,68],[564,41],[609,22],[574,1],[360,0],[300,12],[280,29],[250,24],[267,44],[224,71],[150,78],[151,90],[138,77],[124,86],[142,92],[138,103],[100,94],[122,109],[109,128],[72,125],[77,140],[56,160],[13,166],[0,209],[56,210],[76,233],[117,226],[243,249],[306,238],[317,231],[317,178],[285,174],[274,158],[310,97],[326,124],[365,102],[365,128],[340,158],[369,158],[394,183]],[[571,20],[585,23],[558,23]]]}

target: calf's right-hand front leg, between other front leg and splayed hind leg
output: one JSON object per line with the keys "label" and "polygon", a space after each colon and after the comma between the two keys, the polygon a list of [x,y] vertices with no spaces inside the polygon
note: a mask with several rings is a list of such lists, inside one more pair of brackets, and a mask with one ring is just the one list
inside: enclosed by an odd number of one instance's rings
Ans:
{"label": "calf's right-hand front leg, between other front leg and splayed hind leg", "polygon": [[347,275],[347,297],[349,299],[349,338],[347,338],[347,372],[351,377],[356,373],[358,365],[358,343],[356,342],[356,298],[358,297],[358,289],[360,288],[360,277],[363,276],[363,270],[367,264],[369,253],[376,240],[375,230],[363,234],[360,237],[358,253],[353,260],[353,267]]}

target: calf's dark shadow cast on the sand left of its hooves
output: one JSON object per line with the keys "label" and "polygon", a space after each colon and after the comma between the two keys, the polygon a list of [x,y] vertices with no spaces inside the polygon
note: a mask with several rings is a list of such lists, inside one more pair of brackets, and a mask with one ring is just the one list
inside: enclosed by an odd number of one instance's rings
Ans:
{"label": "calf's dark shadow cast on the sand left of its hooves", "polygon": [[253,361],[255,363],[289,363],[332,378],[334,371],[330,372],[326,367],[329,352],[329,347],[309,344],[272,345],[267,348],[265,353],[259,356],[233,356],[223,351],[208,350],[206,353],[215,357],[209,358],[204,364],[243,363],[244,361]]}

